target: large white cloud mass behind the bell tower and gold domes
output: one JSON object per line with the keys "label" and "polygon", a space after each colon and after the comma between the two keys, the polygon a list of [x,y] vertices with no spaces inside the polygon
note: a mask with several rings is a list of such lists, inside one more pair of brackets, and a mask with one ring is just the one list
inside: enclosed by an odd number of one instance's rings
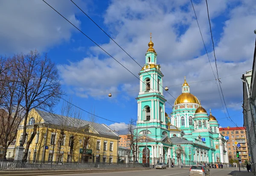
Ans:
{"label": "large white cloud mass behind the bell tower and gold domes", "polygon": [[[121,3],[114,0],[104,16],[105,25],[111,29],[114,40],[140,65],[145,61],[144,54],[148,48],[149,33],[153,33],[152,40],[158,54],[157,61],[161,64],[165,75],[163,86],[182,84],[184,75],[187,76],[188,82],[214,78],[207,56],[201,55],[204,46],[193,18],[192,7],[186,1],[179,2],[180,4],[175,1],[161,1],[161,3],[154,1],[154,6],[151,6],[150,1]],[[215,42],[220,78],[234,75],[221,79],[227,104],[242,99],[241,75],[235,74],[251,69],[255,39],[252,25],[256,22],[256,11],[253,11],[255,5],[252,0],[237,7],[231,7],[230,4],[230,1],[222,0],[210,1],[208,4],[211,20],[224,14],[228,17],[224,28],[218,29],[223,31],[219,42]],[[204,40],[211,44],[205,2],[195,4],[195,10],[198,13]],[[223,24],[212,22],[212,29],[219,28],[218,25]],[[105,43],[102,47],[137,76],[140,66],[115,43]],[[91,52],[96,55],[102,53],[96,46],[91,48]],[[208,52],[216,72],[212,51]],[[139,80],[107,56],[104,59],[99,59],[98,56],[87,57],[76,63],[59,66],[59,70],[64,83],[72,85],[81,95],[93,94],[92,96],[102,98],[102,95],[95,94],[138,89]],[[192,94],[202,100],[206,109],[221,107],[215,81],[200,82],[190,86]],[[181,93],[180,86],[171,87],[169,92],[177,97]],[[134,98],[137,93],[127,92],[123,96]],[[175,99],[166,93],[165,96],[173,104]]]}

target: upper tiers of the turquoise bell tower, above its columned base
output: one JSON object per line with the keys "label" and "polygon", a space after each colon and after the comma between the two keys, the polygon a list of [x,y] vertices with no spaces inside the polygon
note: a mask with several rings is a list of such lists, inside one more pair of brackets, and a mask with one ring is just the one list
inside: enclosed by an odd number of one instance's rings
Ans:
{"label": "upper tiers of the turquoise bell tower, above its columned base", "polygon": [[157,52],[153,48],[152,36],[145,53],[145,64],[140,70],[140,92],[137,99],[137,126],[166,127],[165,102],[163,96],[163,73],[157,65]]}

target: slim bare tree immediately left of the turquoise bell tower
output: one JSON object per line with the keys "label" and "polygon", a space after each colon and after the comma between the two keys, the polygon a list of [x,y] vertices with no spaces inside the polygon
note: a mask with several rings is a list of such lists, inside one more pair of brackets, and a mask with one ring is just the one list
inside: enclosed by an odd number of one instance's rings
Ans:
{"label": "slim bare tree immediately left of the turquoise bell tower", "polygon": [[135,129],[136,120],[131,119],[128,124],[128,138],[131,141],[130,148],[132,152],[133,162],[136,162],[136,154],[138,148],[137,131]]}

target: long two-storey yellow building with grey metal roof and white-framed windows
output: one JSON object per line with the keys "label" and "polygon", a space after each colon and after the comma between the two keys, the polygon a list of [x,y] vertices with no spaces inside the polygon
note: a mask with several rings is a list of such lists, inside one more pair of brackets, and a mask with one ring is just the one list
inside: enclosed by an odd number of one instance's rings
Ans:
{"label": "long two-storey yellow building with grey metal roof and white-framed windows", "polygon": [[[119,136],[105,124],[37,109],[31,110],[27,123],[26,142],[35,126],[37,128],[36,135],[29,146],[27,160],[117,162]],[[19,145],[23,136],[23,124],[24,121],[18,127],[15,146]],[[26,147],[26,142],[24,147]]]}

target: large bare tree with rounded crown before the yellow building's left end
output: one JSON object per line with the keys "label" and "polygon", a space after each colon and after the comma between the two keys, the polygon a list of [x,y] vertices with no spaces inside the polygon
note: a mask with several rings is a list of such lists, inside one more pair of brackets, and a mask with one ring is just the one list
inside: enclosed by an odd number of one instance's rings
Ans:
{"label": "large bare tree with rounded crown before the yellow building's left end", "polygon": [[[26,55],[15,55],[13,58],[15,59],[14,66],[18,72],[21,88],[24,93],[21,103],[24,108],[23,136],[21,142],[23,146],[27,136],[26,129],[29,111],[33,108],[43,110],[51,109],[59,101],[62,92],[58,69],[47,55],[41,58],[38,51],[35,50]],[[29,145],[35,137],[36,131],[37,125],[35,124],[33,133],[31,136],[28,136],[23,160],[27,158]]]}

